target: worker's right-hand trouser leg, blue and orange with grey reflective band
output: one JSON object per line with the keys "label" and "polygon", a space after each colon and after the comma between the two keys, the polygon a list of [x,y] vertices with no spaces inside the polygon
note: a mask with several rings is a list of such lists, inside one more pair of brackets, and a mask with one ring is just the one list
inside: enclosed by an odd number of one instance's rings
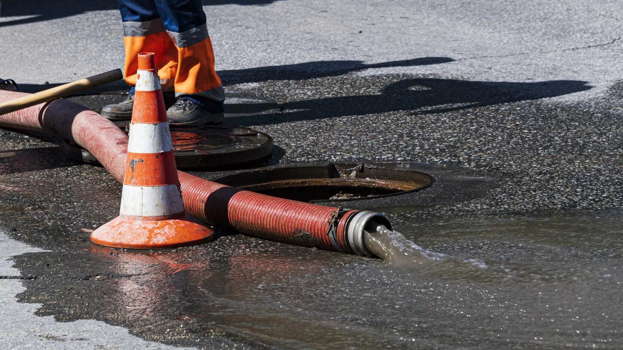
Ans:
{"label": "worker's right-hand trouser leg, blue and orange with grey reflective band", "polygon": [[164,28],[177,47],[176,97],[209,113],[222,113],[225,94],[214,70],[214,52],[201,0],[155,1]]}

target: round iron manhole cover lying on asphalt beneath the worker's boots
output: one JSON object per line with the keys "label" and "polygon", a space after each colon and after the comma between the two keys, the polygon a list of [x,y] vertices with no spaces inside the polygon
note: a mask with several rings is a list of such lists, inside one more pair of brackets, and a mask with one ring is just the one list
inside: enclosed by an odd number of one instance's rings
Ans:
{"label": "round iron manhole cover lying on asphalt beneath the worker's boots", "polygon": [[[127,122],[125,123],[127,124]],[[128,132],[127,126],[120,126]],[[272,152],[272,137],[237,126],[171,126],[173,153],[179,168],[203,168],[254,161]],[[65,141],[65,154],[74,160],[99,164],[77,144]]]}

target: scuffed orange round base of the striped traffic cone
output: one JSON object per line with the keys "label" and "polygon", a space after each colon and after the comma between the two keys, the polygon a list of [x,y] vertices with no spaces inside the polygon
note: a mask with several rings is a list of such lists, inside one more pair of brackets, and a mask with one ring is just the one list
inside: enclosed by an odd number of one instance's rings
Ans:
{"label": "scuffed orange round base of the striped traffic cone", "polygon": [[126,215],[103,224],[91,234],[95,244],[115,248],[161,249],[202,244],[214,239],[214,231],[187,215],[179,219],[145,220]]}

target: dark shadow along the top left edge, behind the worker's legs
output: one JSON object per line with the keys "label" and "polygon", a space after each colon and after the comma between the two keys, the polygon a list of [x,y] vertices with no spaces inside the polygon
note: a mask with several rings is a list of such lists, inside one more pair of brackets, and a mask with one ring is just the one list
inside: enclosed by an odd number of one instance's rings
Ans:
{"label": "dark shadow along the top left edge, behind the worker's legs", "polygon": [[[269,5],[279,0],[202,0],[203,6],[215,5],[242,5],[262,6]],[[16,26],[34,22],[50,21],[64,17],[76,16],[89,11],[115,10],[119,8],[117,0],[4,0],[2,1],[1,17],[34,16],[0,22],[0,27]],[[121,21],[121,19],[120,19]]]}

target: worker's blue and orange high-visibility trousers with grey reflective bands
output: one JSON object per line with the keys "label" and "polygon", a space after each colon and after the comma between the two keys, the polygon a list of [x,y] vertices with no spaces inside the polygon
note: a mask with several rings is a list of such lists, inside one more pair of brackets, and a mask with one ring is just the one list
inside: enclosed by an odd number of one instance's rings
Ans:
{"label": "worker's blue and orange high-visibility trousers with grey reflective bands", "polygon": [[[123,73],[136,83],[141,52],[156,54],[163,90],[222,111],[225,93],[214,70],[214,52],[201,0],[118,0],[125,44]],[[219,110],[220,109],[220,110]]]}

